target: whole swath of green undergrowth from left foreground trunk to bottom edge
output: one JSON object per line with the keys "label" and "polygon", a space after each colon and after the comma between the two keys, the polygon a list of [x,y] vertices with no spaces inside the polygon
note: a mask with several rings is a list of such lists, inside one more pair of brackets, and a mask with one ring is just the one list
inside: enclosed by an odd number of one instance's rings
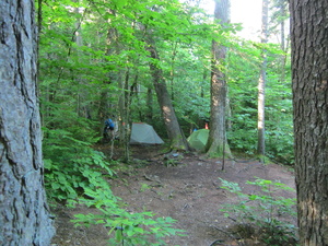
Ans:
{"label": "whole swath of green undergrowth from left foreground trunk to bottom edge", "polygon": [[97,213],[75,214],[75,226],[102,224],[108,230],[108,245],[164,245],[164,238],[181,235],[172,218],[156,218],[152,212],[128,212],[114,196],[106,177],[110,165],[91,143],[74,138],[68,130],[44,129],[45,181],[50,200],[67,206],[87,206]]}

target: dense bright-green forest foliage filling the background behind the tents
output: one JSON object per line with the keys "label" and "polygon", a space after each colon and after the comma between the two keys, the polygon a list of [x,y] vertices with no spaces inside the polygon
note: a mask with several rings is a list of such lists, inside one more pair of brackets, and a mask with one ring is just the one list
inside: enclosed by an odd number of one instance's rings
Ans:
{"label": "dense bright-green forest foliage filling the background behind the tents", "polygon": [[[227,87],[224,114],[230,149],[242,156],[258,155],[258,84],[266,59],[265,155],[271,162],[293,165],[285,1],[271,2],[266,31],[268,40],[279,42],[238,37],[241,24],[214,21],[214,10],[209,13],[199,1],[47,0],[38,4],[38,87],[50,199],[74,201],[81,189],[99,199],[99,189],[85,187],[101,185],[94,164],[113,172],[108,160],[93,148],[102,142],[108,116],[119,126],[115,145],[125,150],[124,162],[130,160],[131,122],[152,125],[169,148],[174,140],[157,103],[165,93],[157,92],[156,83],[166,85],[166,99],[172,102],[184,136],[204,128],[206,122],[211,125],[213,42],[227,48],[218,69],[224,73]],[[106,199],[114,204],[110,197]],[[131,220],[127,214],[121,216]],[[157,227],[165,232],[161,223]],[[131,235],[136,233],[129,230]],[[138,239],[131,241],[136,245]]]}

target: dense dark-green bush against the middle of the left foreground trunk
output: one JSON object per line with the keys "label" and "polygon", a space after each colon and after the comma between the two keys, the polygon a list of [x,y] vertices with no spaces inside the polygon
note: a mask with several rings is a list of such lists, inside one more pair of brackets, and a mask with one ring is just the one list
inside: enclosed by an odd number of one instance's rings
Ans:
{"label": "dense dark-green bush against the middle of the left foreground trunk", "polygon": [[45,181],[47,194],[55,200],[72,200],[84,188],[95,187],[102,172],[113,175],[102,152],[78,140],[67,130],[44,130]]}

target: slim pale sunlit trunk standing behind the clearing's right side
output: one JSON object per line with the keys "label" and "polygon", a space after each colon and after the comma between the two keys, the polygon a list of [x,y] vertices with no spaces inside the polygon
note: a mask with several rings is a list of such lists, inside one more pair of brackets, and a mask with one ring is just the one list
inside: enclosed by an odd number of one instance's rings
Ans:
{"label": "slim pale sunlit trunk standing behind the clearing's right side", "polygon": [[[268,12],[269,0],[262,0],[262,28],[261,28],[261,43],[268,43]],[[257,120],[257,153],[262,159],[266,154],[266,128],[265,128],[265,108],[266,108],[266,82],[267,82],[267,50],[262,50],[262,65],[260,70],[260,77],[258,81],[258,120]]]}

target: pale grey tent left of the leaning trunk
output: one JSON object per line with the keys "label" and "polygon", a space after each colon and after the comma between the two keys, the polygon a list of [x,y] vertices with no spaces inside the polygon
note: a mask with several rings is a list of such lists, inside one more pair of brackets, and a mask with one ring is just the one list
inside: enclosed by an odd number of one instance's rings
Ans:
{"label": "pale grey tent left of the leaning trunk", "polygon": [[133,122],[130,144],[162,144],[164,141],[157,136],[154,128],[144,122]]}

